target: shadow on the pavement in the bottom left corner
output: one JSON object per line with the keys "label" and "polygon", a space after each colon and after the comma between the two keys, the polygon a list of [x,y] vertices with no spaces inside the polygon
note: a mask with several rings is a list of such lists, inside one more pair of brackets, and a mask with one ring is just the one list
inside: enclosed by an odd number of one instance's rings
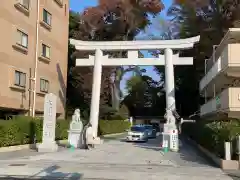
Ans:
{"label": "shadow on the pavement in the bottom left corner", "polygon": [[46,179],[46,180],[54,180],[54,179],[69,179],[69,180],[81,180],[83,179],[83,175],[80,173],[62,173],[57,172],[56,170],[60,167],[57,165],[50,166],[42,171],[34,174],[32,176],[2,176],[0,175],[0,179]]}

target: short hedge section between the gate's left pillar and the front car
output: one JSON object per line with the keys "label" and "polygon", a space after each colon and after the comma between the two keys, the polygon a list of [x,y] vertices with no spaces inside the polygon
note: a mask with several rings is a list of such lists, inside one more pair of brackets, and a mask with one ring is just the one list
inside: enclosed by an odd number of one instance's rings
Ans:
{"label": "short hedge section between the gate's left pillar and the front car", "polygon": [[99,135],[122,133],[130,127],[130,123],[124,120],[100,120]]}

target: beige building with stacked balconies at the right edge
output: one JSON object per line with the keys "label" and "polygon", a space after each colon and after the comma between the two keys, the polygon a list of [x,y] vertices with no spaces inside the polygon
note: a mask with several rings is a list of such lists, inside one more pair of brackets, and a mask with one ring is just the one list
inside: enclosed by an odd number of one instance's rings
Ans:
{"label": "beige building with stacked balconies at the right edge", "polygon": [[240,28],[232,28],[205,60],[205,76],[200,81],[205,104],[200,115],[206,119],[240,117]]}

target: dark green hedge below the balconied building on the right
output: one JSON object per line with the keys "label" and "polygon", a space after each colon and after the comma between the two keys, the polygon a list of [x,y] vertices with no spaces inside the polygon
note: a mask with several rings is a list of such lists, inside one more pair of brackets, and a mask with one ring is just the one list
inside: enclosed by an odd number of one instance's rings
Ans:
{"label": "dark green hedge below the balconied building on the right", "polygon": [[224,142],[232,142],[233,158],[236,158],[236,137],[240,134],[237,119],[184,123],[182,133],[221,158],[224,157]]}

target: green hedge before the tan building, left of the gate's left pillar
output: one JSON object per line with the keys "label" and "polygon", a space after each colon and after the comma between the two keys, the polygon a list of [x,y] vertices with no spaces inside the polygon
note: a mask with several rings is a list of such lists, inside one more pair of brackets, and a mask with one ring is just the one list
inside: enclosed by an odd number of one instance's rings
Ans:
{"label": "green hedge before the tan building, left of the gate's left pillar", "polygon": [[[13,120],[0,120],[0,147],[31,144],[42,140],[42,118],[33,119],[27,116],[15,117]],[[56,140],[66,139],[69,121],[57,120]]]}

